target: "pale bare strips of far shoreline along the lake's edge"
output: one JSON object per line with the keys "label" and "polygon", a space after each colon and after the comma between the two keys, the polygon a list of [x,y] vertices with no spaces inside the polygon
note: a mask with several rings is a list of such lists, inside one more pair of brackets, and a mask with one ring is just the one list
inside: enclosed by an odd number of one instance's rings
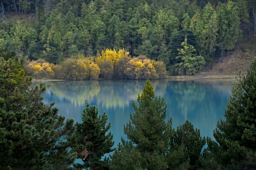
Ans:
{"label": "pale bare strips of far shoreline along the lake's edge", "polygon": [[[167,80],[231,80],[236,78],[236,74],[195,74],[195,75],[178,75],[178,76],[168,76]],[[96,80],[103,80],[101,78]],[[32,82],[53,82],[53,81],[68,81],[65,79],[38,79],[32,78]]]}

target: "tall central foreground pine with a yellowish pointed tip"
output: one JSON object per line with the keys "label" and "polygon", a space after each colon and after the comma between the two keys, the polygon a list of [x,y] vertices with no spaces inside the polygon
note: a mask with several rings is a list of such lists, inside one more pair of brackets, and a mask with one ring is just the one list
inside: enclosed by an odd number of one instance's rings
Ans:
{"label": "tall central foreground pine with a yellowish pointed tip", "polygon": [[125,134],[132,144],[136,144],[144,169],[166,169],[164,153],[172,135],[172,120],[165,122],[166,103],[163,98],[155,96],[154,87],[148,80],[137,101],[138,106],[132,103],[135,113],[131,114],[131,122],[124,128]]}

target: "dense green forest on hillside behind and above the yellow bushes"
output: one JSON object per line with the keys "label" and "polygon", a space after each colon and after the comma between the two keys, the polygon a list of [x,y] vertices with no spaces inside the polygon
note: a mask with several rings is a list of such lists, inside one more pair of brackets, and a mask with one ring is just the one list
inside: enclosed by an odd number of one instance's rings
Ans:
{"label": "dense green forest on hillside behind and above the yellow bushes", "polygon": [[[131,56],[161,60],[177,74],[173,65],[186,34],[207,63],[218,50],[222,61],[241,39],[241,28],[252,33],[254,6],[254,0],[3,0],[0,51],[60,63],[124,48]],[[9,22],[10,12],[28,20]]]}

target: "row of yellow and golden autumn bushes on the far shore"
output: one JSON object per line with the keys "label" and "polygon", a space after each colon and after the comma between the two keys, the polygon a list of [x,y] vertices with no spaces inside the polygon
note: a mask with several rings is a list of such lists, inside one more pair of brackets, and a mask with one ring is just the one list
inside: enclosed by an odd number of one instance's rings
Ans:
{"label": "row of yellow and golden autumn bushes on the far shore", "polygon": [[82,54],[65,59],[59,65],[45,60],[32,61],[27,66],[34,77],[69,80],[83,79],[164,79],[166,65],[145,56],[132,58],[124,49],[106,49],[96,57]]}

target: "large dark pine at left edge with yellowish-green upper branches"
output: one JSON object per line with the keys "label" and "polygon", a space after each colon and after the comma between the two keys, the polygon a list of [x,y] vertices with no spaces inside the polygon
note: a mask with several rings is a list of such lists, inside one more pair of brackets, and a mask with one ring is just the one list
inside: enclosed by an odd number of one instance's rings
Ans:
{"label": "large dark pine at left edge with yellowish-green upper branches", "polygon": [[67,170],[75,160],[65,142],[73,119],[44,105],[42,84],[30,89],[19,59],[0,58],[0,169]]}

